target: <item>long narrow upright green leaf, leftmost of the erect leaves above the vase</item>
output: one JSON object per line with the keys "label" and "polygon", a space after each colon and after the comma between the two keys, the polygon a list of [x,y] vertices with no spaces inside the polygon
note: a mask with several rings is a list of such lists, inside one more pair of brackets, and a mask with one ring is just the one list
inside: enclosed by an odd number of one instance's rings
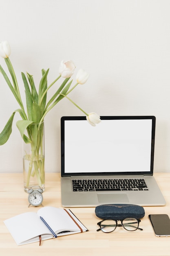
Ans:
{"label": "long narrow upright green leaf, leftmost of the erect leaves above the vase", "polygon": [[28,113],[28,119],[33,120],[33,117],[32,117],[33,101],[32,101],[31,92],[29,89],[29,84],[26,80],[26,76],[24,73],[22,73],[22,80],[24,82],[24,87],[25,87],[26,108]]}

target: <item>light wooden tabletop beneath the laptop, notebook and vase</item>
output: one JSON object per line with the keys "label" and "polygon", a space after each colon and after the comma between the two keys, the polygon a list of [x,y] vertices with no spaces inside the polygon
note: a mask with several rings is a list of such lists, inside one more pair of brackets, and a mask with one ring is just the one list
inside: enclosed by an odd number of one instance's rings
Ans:
{"label": "light wooden tabletop beneath the laptop, notebook and vase", "polygon": [[[0,255],[170,256],[170,237],[156,237],[148,220],[148,214],[152,213],[166,213],[170,216],[170,173],[155,173],[154,176],[165,197],[166,206],[144,207],[145,217],[139,225],[143,231],[128,232],[117,227],[113,233],[97,232],[100,219],[95,216],[95,207],[71,208],[88,228],[88,232],[42,241],[41,246],[38,243],[18,246],[3,221],[20,213],[37,212],[39,207],[28,208],[22,173],[0,173]],[[44,206],[63,208],[60,173],[46,173],[46,190],[43,195]]]}

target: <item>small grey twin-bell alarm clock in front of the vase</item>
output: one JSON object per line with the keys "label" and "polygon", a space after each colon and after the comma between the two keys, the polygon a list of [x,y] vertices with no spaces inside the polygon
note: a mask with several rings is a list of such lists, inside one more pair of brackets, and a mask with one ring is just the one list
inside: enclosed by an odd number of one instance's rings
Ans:
{"label": "small grey twin-bell alarm clock in front of the vase", "polygon": [[[39,206],[40,204],[42,205],[43,201],[43,190],[42,189],[29,189],[28,191],[29,196],[28,196],[28,201],[29,201],[29,206]],[[43,205],[42,205],[43,206]]]}

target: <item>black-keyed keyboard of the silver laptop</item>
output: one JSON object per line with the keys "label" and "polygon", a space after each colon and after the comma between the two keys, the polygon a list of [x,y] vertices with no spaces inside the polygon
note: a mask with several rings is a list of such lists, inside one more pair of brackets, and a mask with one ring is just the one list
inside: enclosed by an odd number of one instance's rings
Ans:
{"label": "black-keyed keyboard of the silver laptop", "polygon": [[73,191],[145,191],[144,179],[72,180]]}

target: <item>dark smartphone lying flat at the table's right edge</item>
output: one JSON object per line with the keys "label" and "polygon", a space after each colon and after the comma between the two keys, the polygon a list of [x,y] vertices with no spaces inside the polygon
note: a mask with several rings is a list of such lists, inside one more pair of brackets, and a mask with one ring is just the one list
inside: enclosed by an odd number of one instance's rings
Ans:
{"label": "dark smartphone lying flat at the table's right edge", "polygon": [[156,236],[170,236],[170,218],[167,214],[150,214],[148,218]]}

